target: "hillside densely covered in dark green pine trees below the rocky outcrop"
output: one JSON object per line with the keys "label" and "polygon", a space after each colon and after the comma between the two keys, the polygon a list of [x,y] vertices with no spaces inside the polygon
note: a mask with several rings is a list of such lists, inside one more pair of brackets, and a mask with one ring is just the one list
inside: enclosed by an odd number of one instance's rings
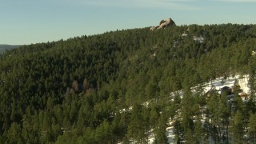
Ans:
{"label": "hillside densely covered in dark green pine trees below the rocky outcrop", "polygon": [[[0,55],[0,143],[146,143],[150,130],[166,143],[175,115],[178,143],[256,142],[254,50],[256,26],[234,24],[118,30],[10,50]],[[230,74],[250,75],[246,102],[236,92],[230,106],[225,94],[190,91]],[[178,90],[183,98],[171,101]]]}

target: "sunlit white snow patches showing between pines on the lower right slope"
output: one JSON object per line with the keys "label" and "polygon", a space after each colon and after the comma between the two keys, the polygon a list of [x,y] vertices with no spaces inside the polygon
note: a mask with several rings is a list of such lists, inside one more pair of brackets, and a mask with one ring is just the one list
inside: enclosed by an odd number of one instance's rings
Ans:
{"label": "sunlit white snow patches showing between pines on the lower right slope", "polygon": [[[203,95],[208,95],[211,90],[216,90],[216,92],[218,94],[221,94],[222,93],[221,90],[224,87],[234,88],[236,86],[240,86],[239,91],[241,91],[242,93],[246,93],[247,96],[248,96],[248,94],[250,94],[250,88],[248,87],[249,86],[248,82],[249,82],[249,76],[248,75],[243,75],[243,76],[236,75],[235,77],[230,75],[230,77],[227,77],[227,78],[224,78],[224,77],[216,78],[214,80],[211,80],[210,82],[205,82],[203,84],[199,84],[198,86],[191,87],[191,91],[194,94],[197,94],[198,93],[198,87],[202,87],[202,94]],[[183,95],[184,95],[184,91],[179,90],[179,91],[172,92],[170,94],[170,101],[174,101],[173,98],[175,97],[175,94],[178,94],[178,96],[180,98],[182,98]],[[243,96],[244,95],[242,95],[242,97],[241,97],[243,102],[248,102],[248,97],[243,97]],[[227,97],[229,98],[228,102],[230,103],[230,105],[233,105],[232,102],[234,102],[234,94],[227,95]],[[142,105],[149,106],[149,103],[150,102],[145,102]],[[128,112],[130,110],[132,110],[132,107],[130,107],[129,110],[122,110],[121,112],[122,113],[123,112]],[[207,110],[206,107],[203,108],[202,110],[200,110],[200,113],[202,114],[202,118],[200,119],[201,122],[202,122],[202,126],[204,126],[206,124],[207,116],[206,116],[206,114],[204,114],[204,112],[206,110]],[[179,117],[180,113],[176,113],[176,114],[177,114],[176,119],[169,118],[168,121],[167,121],[166,138],[168,139],[168,143],[176,142],[175,134],[174,134],[174,131],[175,131],[174,123],[178,121],[178,117]],[[195,119],[194,119],[194,121],[195,121]],[[147,136],[148,137],[147,143],[154,143],[155,142],[154,130],[152,129],[148,133],[149,133],[149,135]],[[211,137],[209,139],[211,139],[211,141],[214,141]],[[120,143],[122,143],[122,142],[120,142]],[[136,143],[136,142],[134,142],[134,143]]]}

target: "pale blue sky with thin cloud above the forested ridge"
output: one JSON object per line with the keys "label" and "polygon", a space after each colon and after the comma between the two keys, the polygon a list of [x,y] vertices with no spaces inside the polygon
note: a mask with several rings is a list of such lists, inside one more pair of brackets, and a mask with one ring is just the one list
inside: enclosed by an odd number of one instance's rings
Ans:
{"label": "pale blue sky with thin cloud above the forested ridge", "polygon": [[107,31],[176,25],[256,24],[256,0],[0,0],[0,44],[29,45]]}

